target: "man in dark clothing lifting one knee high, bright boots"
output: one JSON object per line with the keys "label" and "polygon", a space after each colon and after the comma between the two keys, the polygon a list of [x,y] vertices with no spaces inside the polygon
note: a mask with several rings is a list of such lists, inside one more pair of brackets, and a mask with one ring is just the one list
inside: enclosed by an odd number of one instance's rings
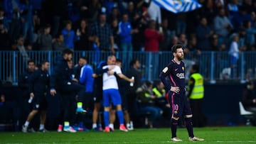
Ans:
{"label": "man in dark clothing lifting one knee high, bright boots", "polygon": [[[78,94],[78,103],[80,98],[83,96],[84,87],[73,81],[71,77],[71,70],[68,67],[68,60],[71,60],[73,57],[73,50],[65,49],[63,50],[62,57],[59,57],[53,74],[50,77],[50,94],[55,96],[55,94],[60,94],[64,106],[64,123],[63,128],[62,124],[59,125],[58,131],[67,131],[74,133],[76,132],[69,124],[70,121],[70,106],[69,99],[73,97],[73,92]],[[79,103],[81,104],[81,103]],[[85,113],[86,111],[82,109],[82,106],[78,106],[77,112]]]}

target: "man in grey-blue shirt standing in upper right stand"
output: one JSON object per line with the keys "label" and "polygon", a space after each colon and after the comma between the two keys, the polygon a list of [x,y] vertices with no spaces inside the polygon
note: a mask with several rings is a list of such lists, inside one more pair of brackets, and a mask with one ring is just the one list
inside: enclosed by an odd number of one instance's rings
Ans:
{"label": "man in grey-blue shirt standing in upper right stand", "polygon": [[214,18],[214,29],[218,35],[218,45],[225,43],[228,35],[233,31],[233,25],[226,16],[224,8],[219,9],[218,16]]}

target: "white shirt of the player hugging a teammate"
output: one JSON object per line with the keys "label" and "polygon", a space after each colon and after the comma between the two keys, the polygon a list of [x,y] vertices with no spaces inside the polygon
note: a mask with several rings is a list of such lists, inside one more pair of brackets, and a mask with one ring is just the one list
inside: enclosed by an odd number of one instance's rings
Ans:
{"label": "white shirt of the player hugging a teammate", "polygon": [[[102,67],[102,69],[105,69],[110,66],[111,65],[106,65],[106,66]],[[120,67],[117,65],[115,65],[114,69],[111,71],[116,72],[117,74],[122,74]],[[105,73],[103,73],[102,80],[103,80],[103,87],[102,87],[103,90],[118,89],[117,78],[114,76],[114,74],[108,75],[107,72],[105,72]]]}

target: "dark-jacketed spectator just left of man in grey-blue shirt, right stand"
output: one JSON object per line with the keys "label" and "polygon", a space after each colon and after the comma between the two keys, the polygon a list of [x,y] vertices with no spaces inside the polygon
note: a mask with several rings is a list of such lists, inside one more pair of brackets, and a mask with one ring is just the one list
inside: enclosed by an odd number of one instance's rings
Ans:
{"label": "dark-jacketed spectator just left of man in grey-blue shirt, right stand", "polygon": [[213,35],[213,31],[208,26],[206,17],[202,17],[200,24],[196,28],[196,36],[198,40],[198,48],[200,50],[210,50],[210,37]]}

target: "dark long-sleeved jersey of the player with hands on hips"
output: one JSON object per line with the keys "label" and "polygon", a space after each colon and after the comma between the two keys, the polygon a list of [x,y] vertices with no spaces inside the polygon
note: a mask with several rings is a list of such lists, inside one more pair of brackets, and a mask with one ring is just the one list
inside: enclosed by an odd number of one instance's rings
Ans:
{"label": "dark long-sleeved jersey of the player with hands on hips", "polygon": [[[181,61],[180,64],[177,64],[174,60],[171,60],[169,65],[164,67],[161,74],[159,75],[161,81],[166,86],[167,90],[173,87],[179,87],[182,92],[185,92],[185,65]],[[166,82],[166,77],[169,77],[171,84]]]}

